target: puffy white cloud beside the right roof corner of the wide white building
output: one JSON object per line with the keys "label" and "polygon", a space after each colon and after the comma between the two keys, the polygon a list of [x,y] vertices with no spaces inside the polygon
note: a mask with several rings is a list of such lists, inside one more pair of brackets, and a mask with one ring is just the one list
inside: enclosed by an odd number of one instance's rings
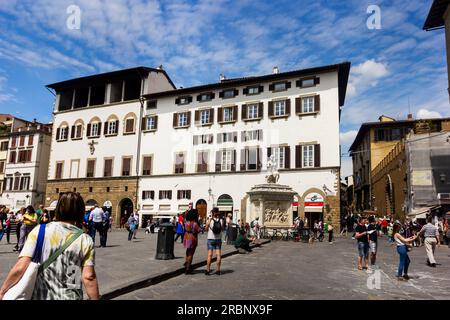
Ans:
{"label": "puffy white cloud beside the right roof corner of the wide white building", "polygon": [[369,87],[375,87],[379,79],[387,76],[387,65],[374,59],[362,62],[351,69],[349,96],[356,96]]}

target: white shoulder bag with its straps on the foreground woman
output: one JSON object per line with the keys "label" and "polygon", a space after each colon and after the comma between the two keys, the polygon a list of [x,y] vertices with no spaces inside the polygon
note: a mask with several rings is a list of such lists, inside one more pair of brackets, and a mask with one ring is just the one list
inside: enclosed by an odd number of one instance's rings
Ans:
{"label": "white shoulder bag with its straps on the foreground woman", "polygon": [[42,265],[40,264],[42,256],[42,248],[45,238],[45,224],[41,224],[39,227],[38,238],[36,241],[36,248],[34,249],[33,258],[28,265],[27,270],[23,274],[22,278],[3,296],[3,300],[31,300],[33,296],[34,287],[36,285],[36,278],[40,272],[50,266],[60,255],[64,252],[79,236],[83,234],[82,230],[77,231],[70,237],[69,240],[53,253]]}

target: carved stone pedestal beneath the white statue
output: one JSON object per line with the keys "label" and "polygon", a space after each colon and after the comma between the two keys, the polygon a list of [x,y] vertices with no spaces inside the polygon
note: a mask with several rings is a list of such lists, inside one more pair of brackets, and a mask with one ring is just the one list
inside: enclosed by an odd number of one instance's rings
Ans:
{"label": "carved stone pedestal beneath the white statue", "polygon": [[296,192],[277,183],[254,186],[247,192],[247,221],[259,217],[260,224],[268,228],[292,226],[292,202]]}

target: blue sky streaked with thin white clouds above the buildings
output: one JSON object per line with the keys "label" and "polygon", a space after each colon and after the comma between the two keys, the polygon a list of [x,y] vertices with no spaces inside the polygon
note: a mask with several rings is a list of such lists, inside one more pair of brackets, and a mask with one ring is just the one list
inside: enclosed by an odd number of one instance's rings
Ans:
{"label": "blue sky streaked with thin white clouds above the buildings", "polygon": [[[0,0],[0,113],[51,121],[46,84],[138,65],[162,64],[186,87],[351,61],[346,152],[381,114],[405,118],[410,105],[416,117],[450,116],[444,31],[422,30],[431,2]],[[79,30],[66,26],[72,4]],[[366,26],[369,5],[379,30]]]}

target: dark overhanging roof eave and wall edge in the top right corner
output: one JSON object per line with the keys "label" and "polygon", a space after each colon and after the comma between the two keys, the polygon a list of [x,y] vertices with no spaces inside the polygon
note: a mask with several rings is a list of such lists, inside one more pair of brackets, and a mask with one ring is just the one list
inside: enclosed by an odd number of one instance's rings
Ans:
{"label": "dark overhanging roof eave and wall edge in the top right corner", "polygon": [[450,95],[450,0],[434,0],[423,26],[424,30],[445,28],[447,46],[448,93]]}

